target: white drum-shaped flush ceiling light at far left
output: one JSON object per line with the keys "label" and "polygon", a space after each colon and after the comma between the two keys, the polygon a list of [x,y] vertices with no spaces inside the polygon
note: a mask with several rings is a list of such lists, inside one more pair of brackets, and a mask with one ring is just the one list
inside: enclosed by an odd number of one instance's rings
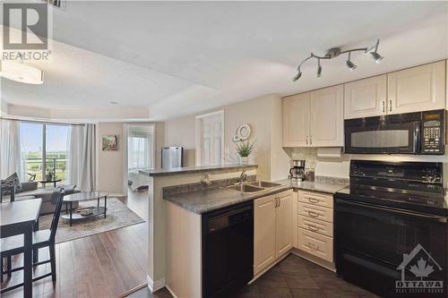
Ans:
{"label": "white drum-shaped flush ceiling light at far left", "polygon": [[30,65],[2,61],[0,76],[8,80],[20,81],[26,84],[41,84],[44,82],[44,72]]}

